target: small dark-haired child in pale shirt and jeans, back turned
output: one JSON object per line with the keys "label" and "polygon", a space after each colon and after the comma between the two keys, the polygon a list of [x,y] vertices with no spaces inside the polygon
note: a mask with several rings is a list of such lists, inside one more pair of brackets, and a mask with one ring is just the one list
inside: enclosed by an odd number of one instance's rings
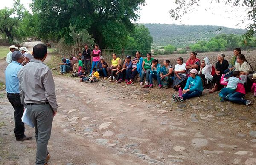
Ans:
{"label": "small dark-haired child in pale shirt and jeans, back turned", "polygon": [[244,84],[244,81],[240,79],[240,71],[233,71],[233,76],[228,79],[224,78],[224,81],[227,81],[228,83],[219,93],[221,102],[224,102],[224,99],[228,100],[228,97],[235,92],[238,83]]}

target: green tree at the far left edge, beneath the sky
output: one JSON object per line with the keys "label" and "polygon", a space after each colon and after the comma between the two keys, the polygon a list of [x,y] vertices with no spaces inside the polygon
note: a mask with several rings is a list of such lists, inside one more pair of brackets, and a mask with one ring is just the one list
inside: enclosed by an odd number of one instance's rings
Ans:
{"label": "green tree at the far left edge, beneath the sky", "polygon": [[0,32],[9,41],[13,41],[17,35],[17,27],[23,17],[25,8],[20,4],[20,0],[15,0],[13,8],[4,8],[0,10]]}

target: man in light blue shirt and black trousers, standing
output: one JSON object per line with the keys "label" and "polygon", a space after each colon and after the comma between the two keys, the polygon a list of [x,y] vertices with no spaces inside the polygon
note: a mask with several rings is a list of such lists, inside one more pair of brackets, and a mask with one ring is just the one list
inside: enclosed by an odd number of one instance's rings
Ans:
{"label": "man in light blue shirt and black trousers, standing", "polygon": [[7,66],[4,74],[6,80],[6,92],[9,102],[14,108],[14,134],[17,141],[29,140],[32,137],[27,137],[25,132],[24,123],[21,122],[24,107],[20,101],[19,79],[18,72],[22,68],[21,63],[24,61],[23,54],[20,51],[14,51],[12,53],[12,62]]}

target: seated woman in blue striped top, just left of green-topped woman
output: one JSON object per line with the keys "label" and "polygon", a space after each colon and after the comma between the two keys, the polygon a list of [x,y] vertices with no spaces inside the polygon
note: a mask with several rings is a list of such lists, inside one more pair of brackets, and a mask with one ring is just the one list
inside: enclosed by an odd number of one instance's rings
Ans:
{"label": "seated woman in blue striped top, just left of green-topped woman", "polygon": [[[134,58],[135,59],[135,58]],[[135,76],[139,73],[141,76],[141,69],[142,69],[142,62],[143,62],[143,58],[141,57],[140,51],[136,52],[136,59],[137,60],[133,60],[133,66],[134,63],[136,63],[136,67],[133,67],[131,70],[131,77],[130,80],[126,83],[126,84],[131,84],[134,81]]]}

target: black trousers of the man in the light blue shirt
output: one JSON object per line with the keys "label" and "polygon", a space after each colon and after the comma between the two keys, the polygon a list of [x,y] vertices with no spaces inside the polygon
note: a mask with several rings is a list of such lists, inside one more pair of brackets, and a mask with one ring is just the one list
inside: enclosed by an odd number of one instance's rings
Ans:
{"label": "black trousers of the man in the light blue shirt", "polygon": [[7,98],[14,108],[14,134],[15,137],[22,138],[24,136],[25,127],[24,123],[21,122],[21,117],[23,115],[24,107],[20,101],[20,94],[9,94],[7,93]]}

